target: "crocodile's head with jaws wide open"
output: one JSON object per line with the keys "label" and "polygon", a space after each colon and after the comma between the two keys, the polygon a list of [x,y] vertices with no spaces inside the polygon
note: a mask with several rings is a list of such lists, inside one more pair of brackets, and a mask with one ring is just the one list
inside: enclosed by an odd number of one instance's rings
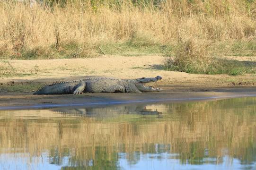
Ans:
{"label": "crocodile's head with jaws wide open", "polygon": [[162,90],[162,88],[155,88],[155,87],[147,87],[144,85],[144,83],[149,83],[149,82],[157,82],[158,80],[161,80],[161,76],[156,76],[155,78],[138,78],[135,81],[135,86],[138,88],[139,91],[141,92],[159,92]]}

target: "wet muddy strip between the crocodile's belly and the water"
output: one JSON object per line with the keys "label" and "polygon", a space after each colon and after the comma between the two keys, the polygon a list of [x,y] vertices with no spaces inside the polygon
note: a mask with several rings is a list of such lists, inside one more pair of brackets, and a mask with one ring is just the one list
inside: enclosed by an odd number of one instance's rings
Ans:
{"label": "wet muddy strip between the crocodile's belly and the water", "polygon": [[97,107],[135,103],[211,101],[256,97],[256,87],[168,87],[155,93],[84,93],[79,95],[33,95],[6,93],[0,96],[0,110],[26,110],[53,107]]}

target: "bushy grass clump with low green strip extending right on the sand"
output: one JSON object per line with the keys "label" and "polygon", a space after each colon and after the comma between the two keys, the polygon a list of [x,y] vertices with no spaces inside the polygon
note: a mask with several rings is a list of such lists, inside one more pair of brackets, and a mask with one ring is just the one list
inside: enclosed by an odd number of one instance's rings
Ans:
{"label": "bushy grass clump with low green strip extending right on the sand", "polygon": [[166,59],[165,68],[194,74],[229,74],[237,76],[244,73],[256,73],[256,62],[212,57],[207,48],[207,42],[183,42],[175,49],[174,58]]}

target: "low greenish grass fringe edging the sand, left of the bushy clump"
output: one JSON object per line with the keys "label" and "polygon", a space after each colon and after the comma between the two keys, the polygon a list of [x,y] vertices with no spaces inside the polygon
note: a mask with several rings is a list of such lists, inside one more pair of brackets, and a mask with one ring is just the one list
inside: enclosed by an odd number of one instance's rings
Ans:
{"label": "low greenish grass fringe edging the sand, left of the bushy clump", "polygon": [[149,54],[164,53],[166,46],[149,40],[133,39],[126,42],[99,42],[97,44],[79,44],[76,42],[62,43],[56,48],[55,44],[47,49],[22,48],[16,53],[5,53],[0,59],[76,59],[94,58],[103,55],[100,47],[106,55],[143,56]]}

